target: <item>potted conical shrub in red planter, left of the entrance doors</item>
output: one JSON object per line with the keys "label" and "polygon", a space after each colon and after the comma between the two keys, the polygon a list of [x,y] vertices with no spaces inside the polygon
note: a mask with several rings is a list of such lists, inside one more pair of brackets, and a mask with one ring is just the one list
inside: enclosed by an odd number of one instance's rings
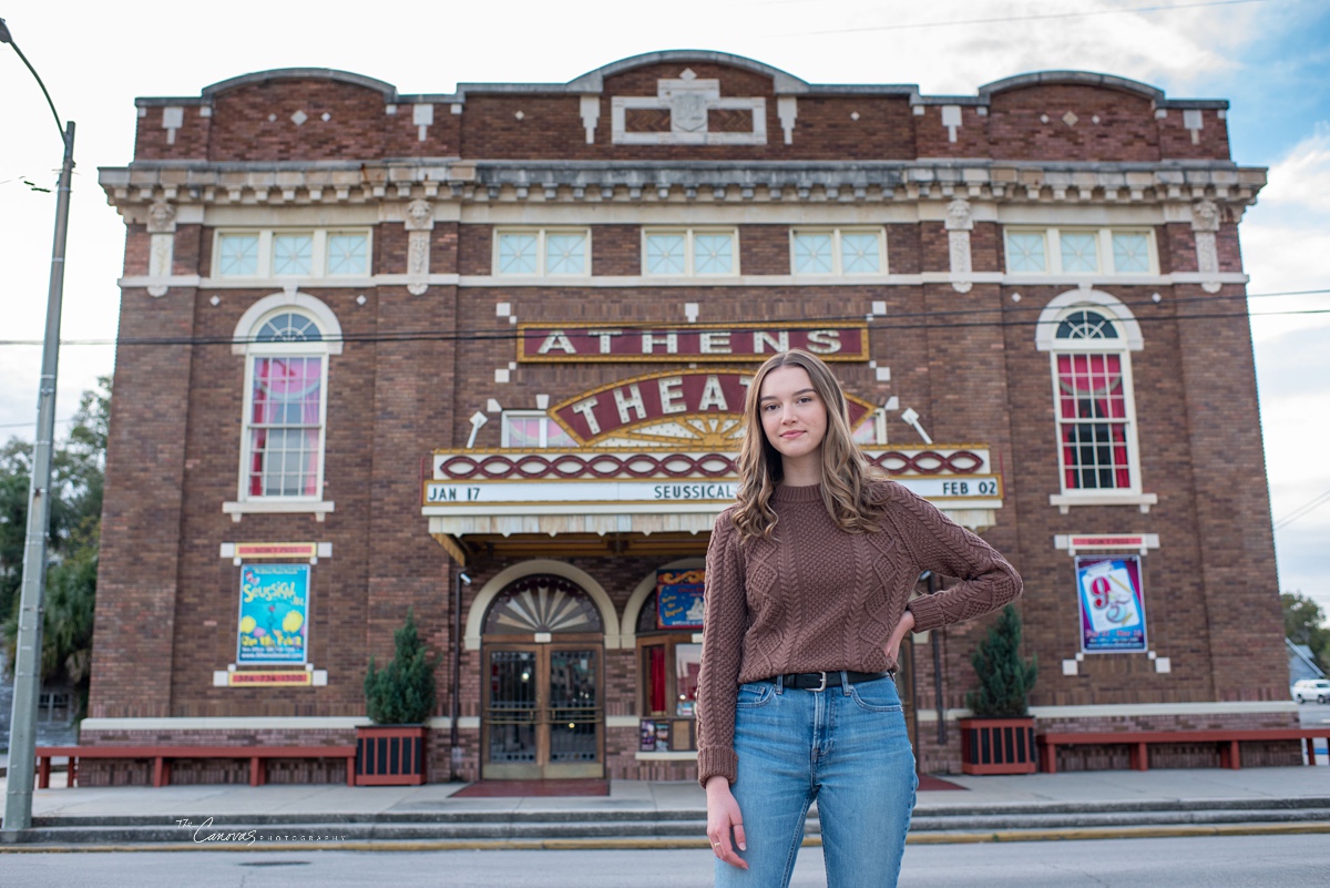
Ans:
{"label": "potted conical shrub in red planter, left of the entrance doors", "polygon": [[364,675],[364,703],[370,727],[356,728],[356,786],[419,786],[424,783],[424,722],[434,713],[431,657],[416,631],[415,614],[392,635],[395,655],[382,670]]}

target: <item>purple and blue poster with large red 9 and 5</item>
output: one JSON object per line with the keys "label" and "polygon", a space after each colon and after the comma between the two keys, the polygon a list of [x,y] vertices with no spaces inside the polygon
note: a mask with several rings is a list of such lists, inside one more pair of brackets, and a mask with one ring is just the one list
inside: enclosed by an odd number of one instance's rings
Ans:
{"label": "purple and blue poster with large red 9 and 5", "polygon": [[1083,651],[1116,654],[1148,650],[1140,556],[1079,556],[1076,589]]}

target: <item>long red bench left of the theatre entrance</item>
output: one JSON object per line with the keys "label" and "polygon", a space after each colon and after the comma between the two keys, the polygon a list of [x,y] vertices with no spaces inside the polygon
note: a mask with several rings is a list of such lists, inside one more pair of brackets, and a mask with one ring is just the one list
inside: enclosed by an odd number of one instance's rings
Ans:
{"label": "long red bench left of the theatre entrance", "polygon": [[346,784],[355,786],[355,746],[39,746],[37,788],[51,787],[51,759],[69,758],[69,784],[80,759],[150,759],[153,786],[170,784],[173,759],[249,759],[250,786],[267,783],[270,759],[346,759]]}

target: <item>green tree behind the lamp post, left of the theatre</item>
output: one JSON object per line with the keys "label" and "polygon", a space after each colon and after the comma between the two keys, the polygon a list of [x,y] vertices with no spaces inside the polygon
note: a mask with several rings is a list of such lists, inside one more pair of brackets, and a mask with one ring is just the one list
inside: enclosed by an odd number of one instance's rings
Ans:
{"label": "green tree behind the lamp post, left of the theatre", "polygon": [[[77,717],[86,711],[97,554],[110,417],[110,376],[82,393],[69,436],[51,460],[47,594],[43,611],[43,682],[74,693]],[[13,671],[19,593],[28,526],[32,444],[11,439],[0,447],[0,638]]]}

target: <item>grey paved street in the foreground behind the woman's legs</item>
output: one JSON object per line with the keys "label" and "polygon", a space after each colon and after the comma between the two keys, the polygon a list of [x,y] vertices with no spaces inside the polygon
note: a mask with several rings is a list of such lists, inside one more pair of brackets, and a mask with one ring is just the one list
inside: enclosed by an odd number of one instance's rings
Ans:
{"label": "grey paved street in the foreground behind the woman's legs", "polygon": [[[902,888],[1325,888],[1325,835],[911,845]],[[0,855],[7,888],[706,888],[706,851],[136,852]],[[805,848],[794,888],[823,885]]]}

